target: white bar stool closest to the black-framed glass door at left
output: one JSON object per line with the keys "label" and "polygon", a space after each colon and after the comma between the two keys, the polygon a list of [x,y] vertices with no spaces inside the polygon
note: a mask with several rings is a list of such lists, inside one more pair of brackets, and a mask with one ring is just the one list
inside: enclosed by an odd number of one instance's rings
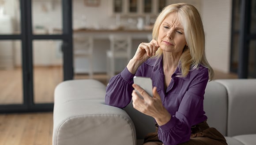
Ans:
{"label": "white bar stool closest to the black-framed glass door at left", "polygon": [[93,38],[73,36],[73,55],[75,58],[87,58],[89,62],[89,78],[93,78]]}

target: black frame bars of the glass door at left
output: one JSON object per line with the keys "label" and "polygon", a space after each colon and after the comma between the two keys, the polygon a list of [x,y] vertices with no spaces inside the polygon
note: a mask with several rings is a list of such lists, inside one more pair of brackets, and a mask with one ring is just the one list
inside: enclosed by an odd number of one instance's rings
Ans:
{"label": "black frame bars of the glass door at left", "polygon": [[[21,40],[23,72],[23,104],[0,105],[0,113],[53,111],[53,103],[34,103],[33,87],[33,40],[62,40],[63,80],[73,79],[72,0],[62,0],[63,33],[60,35],[33,35],[32,0],[19,0],[21,34],[0,35],[0,40]],[[13,88],[15,90],[15,88]]]}

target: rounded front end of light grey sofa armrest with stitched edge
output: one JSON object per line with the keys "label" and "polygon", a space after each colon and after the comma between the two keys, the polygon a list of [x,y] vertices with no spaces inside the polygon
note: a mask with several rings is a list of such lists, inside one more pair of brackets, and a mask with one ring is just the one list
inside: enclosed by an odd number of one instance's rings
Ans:
{"label": "rounded front end of light grey sofa armrest with stitched edge", "polygon": [[53,145],[135,145],[128,114],[103,99],[73,100],[53,112]]}

